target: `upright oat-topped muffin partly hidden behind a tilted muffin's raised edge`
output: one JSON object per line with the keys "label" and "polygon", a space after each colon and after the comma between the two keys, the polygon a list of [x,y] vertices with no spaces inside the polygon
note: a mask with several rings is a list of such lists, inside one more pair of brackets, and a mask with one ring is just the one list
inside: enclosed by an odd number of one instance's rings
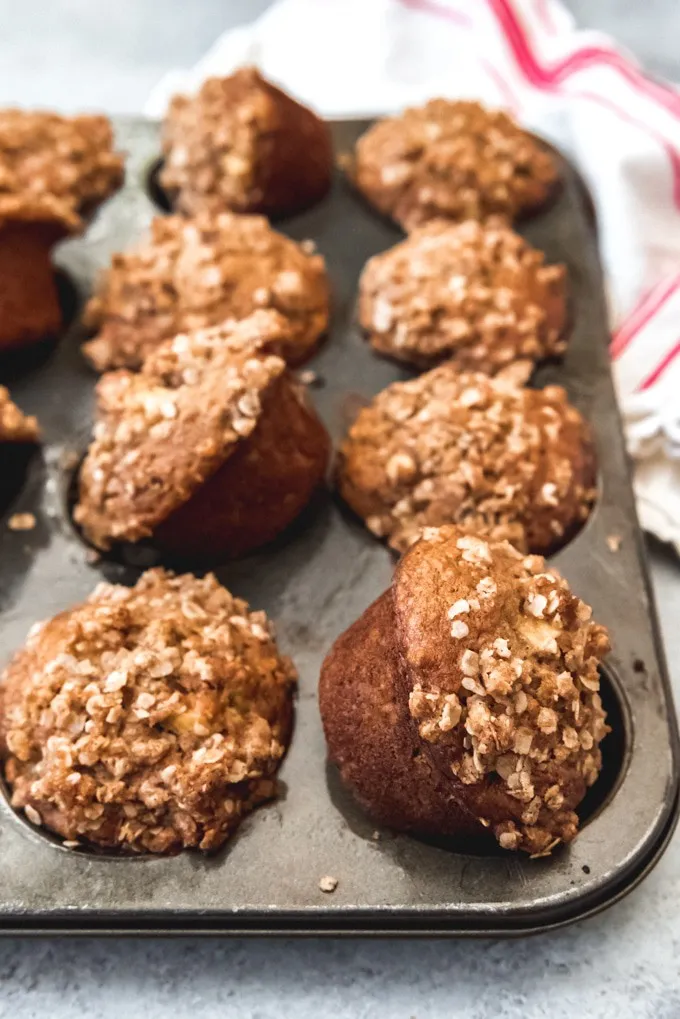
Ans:
{"label": "upright oat-topped muffin partly hidden behind a tilted muffin's raised edge", "polygon": [[98,371],[137,369],[178,332],[273,309],[290,326],[278,353],[299,364],[327,328],[328,301],[323,258],[263,217],[161,216],[100,278],[84,316],[97,335],[84,352]]}

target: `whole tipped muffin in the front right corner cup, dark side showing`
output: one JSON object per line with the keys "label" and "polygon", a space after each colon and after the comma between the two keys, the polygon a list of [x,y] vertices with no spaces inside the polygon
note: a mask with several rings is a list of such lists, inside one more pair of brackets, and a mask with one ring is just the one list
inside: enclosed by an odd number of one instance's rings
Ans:
{"label": "whole tipped muffin in the front right corner cup, dark side showing", "polygon": [[608,732],[590,616],[541,556],[428,529],[322,666],[343,781],[399,829],[486,829],[534,855],[570,842]]}

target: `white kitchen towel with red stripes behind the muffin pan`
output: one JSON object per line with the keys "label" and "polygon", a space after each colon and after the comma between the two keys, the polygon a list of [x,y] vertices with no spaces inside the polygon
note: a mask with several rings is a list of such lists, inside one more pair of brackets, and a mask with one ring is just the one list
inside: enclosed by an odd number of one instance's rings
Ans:
{"label": "white kitchen towel with red stripes behind the muffin pan", "polygon": [[680,551],[680,91],[577,30],[560,0],[278,0],[163,78],[146,112],[245,63],[328,117],[479,99],[576,163],[597,214],[640,520]]}

